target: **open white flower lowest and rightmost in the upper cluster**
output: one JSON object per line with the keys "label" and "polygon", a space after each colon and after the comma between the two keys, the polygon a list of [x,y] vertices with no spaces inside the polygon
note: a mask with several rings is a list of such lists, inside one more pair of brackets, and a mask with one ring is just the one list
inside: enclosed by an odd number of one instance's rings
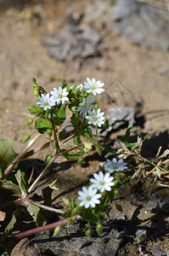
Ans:
{"label": "open white flower lowest and rightmost in the upper cluster", "polygon": [[89,113],[90,115],[86,116],[89,125],[98,125],[99,127],[104,125],[104,112],[100,111],[100,108],[97,111],[93,109],[93,111]]}

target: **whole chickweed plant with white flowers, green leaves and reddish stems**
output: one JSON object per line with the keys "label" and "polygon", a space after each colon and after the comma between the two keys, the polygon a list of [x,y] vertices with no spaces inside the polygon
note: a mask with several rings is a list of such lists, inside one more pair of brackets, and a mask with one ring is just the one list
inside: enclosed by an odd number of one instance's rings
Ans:
{"label": "whole chickweed plant with white flowers, green leaves and reddish stems", "polygon": [[[122,211],[121,205],[115,201],[115,195],[121,193],[116,188],[116,185],[123,183],[122,174],[128,170],[127,162],[123,160],[126,160],[128,156],[135,155],[142,161],[143,165],[148,162],[150,166],[153,166],[159,178],[161,178],[161,172],[169,172],[161,164],[161,160],[169,154],[169,149],[154,161],[149,161],[141,155],[141,148],[145,138],[138,137],[136,143],[128,143],[132,124],[128,125],[124,142],[116,139],[112,146],[99,143],[98,130],[109,127],[108,120],[104,117],[104,112],[101,111],[94,98],[97,94],[104,93],[104,83],[101,83],[101,81],[87,78],[84,84],[78,86],[73,84],[69,87],[63,80],[58,88],[54,88],[50,92],[38,85],[36,79],[32,79],[32,82],[32,92],[37,97],[37,100],[35,100],[36,104],[27,108],[33,116],[26,123],[27,125],[34,124],[35,131],[31,135],[25,135],[20,140],[20,143],[28,142],[20,154],[14,152],[12,140],[0,140],[0,186],[3,189],[13,191],[16,196],[14,201],[8,201],[1,205],[0,210],[13,203],[22,206],[14,211],[13,217],[0,238],[0,246],[7,252],[11,251],[17,239],[50,229],[54,229],[54,236],[56,236],[62,225],[67,224],[70,226],[70,224],[80,219],[87,222],[85,228],[87,236],[93,234],[93,228],[95,229],[95,227],[100,234],[104,213],[109,210],[110,203],[114,201],[115,207]],[[70,110],[70,125],[65,125],[66,108]],[[95,137],[91,127],[96,130]],[[33,135],[34,137],[32,137]],[[46,137],[47,143],[43,143],[38,148],[30,149],[42,136]],[[49,172],[49,168],[59,156],[65,157],[66,160],[77,160],[77,163],[82,165],[84,155],[90,152],[83,143],[83,138],[93,143],[99,154],[102,154],[103,150],[106,151],[105,158],[113,155],[113,159],[105,161],[104,172],[99,171],[93,174],[88,186],[83,186],[78,191],[76,201],[63,198],[64,210],[47,207],[33,201],[31,198],[37,192],[37,184]],[[70,140],[73,140],[75,145],[72,148],[65,148],[65,143]],[[46,156],[46,166],[39,176],[31,182],[33,172],[28,179],[25,169],[22,170],[20,163],[24,163],[31,155],[49,146],[52,147],[52,153]],[[136,177],[138,172],[140,170],[135,172],[132,178]],[[63,214],[63,220],[47,224],[40,211],[41,208],[56,212],[56,214]],[[17,216],[21,213],[24,214],[25,211],[31,214],[37,224],[37,228],[13,235],[12,232]],[[0,217],[4,219],[5,213],[0,211]]]}

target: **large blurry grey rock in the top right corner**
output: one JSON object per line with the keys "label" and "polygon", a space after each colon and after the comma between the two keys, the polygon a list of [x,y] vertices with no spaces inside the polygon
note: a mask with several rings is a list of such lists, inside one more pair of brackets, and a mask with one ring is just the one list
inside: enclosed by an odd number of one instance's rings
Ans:
{"label": "large blurry grey rock in the top right corner", "polygon": [[156,8],[137,0],[119,0],[113,13],[115,32],[135,44],[152,49],[169,49],[169,15],[166,9]]}

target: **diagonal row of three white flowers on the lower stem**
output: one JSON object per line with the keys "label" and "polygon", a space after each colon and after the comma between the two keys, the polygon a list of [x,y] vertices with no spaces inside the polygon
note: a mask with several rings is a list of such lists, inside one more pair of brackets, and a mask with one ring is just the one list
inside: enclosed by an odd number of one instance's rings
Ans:
{"label": "diagonal row of three white flowers on the lower stem", "polygon": [[114,186],[114,177],[110,177],[112,172],[120,172],[127,169],[127,163],[123,160],[116,160],[115,158],[110,161],[107,160],[104,163],[104,169],[107,171],[105,174],[103,172],[94,173],[93,177],[90,179],[92,183],[88,188],[82,187],[82,191],[78,192],[78,200],[80,201],[80,207],[95,207],[100,203],[99,198],[102,196],[104,191],[110,191],[111,187]]}

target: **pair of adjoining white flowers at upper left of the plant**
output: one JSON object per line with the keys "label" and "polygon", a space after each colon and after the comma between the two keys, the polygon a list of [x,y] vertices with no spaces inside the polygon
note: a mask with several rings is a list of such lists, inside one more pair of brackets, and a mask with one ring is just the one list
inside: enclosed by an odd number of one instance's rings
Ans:
{"label": "pair of adjoining white flowers at upper left of the plant", "polygon": [[42,94],[38,96],[39,102],[37,102],[37,104],[44,110],[51,109],[56,104],[65,104],[65,102],[69,101],[67,97],[68,94],[69,92],[66,88],[62,89],[62,87],[59,86],[59,89],[54,88],[54,90],[50,91],[50,94],[47,93],[46,95]]}

